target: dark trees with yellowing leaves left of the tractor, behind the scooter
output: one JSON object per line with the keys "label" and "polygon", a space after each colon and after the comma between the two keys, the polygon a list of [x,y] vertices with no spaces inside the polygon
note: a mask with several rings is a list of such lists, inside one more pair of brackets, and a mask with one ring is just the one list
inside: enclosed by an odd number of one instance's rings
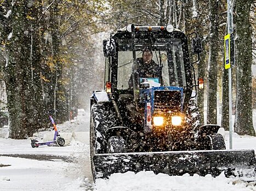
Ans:
{"label": "dark trees with yellowing leaves left of the tractor, behind the scooter", "polygon": [[[48,115],[69,118],[69,91],[81,41],[98,30],[103,1],[1,1],[1,50],[10,138],[47,127]],[[72,74],[73,75],[73,74]],[[78,87],[77,87],[78,88]],[[76,97],[76,95],[72,95]]]}

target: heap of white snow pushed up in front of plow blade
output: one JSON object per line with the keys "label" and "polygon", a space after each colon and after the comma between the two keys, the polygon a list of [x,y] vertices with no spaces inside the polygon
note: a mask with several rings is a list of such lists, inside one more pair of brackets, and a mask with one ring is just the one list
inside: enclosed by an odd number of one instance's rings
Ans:
{"label": "heap of white snow pushed up in front of plow blade", "polygon": [[109,180],[97,179],[95,190],[97,191],[156,191],[156,190],[195,190],[195,191],[215,191],[233,190],[246,191],[256,190],[253,184],[237,182],[232,178],[225,178],[224,174],[214,178],[211,175],[205,177],[194,175],[189,176],[168,176],[166,174],[155,175],[150,171],[118,173],[110,176]]}

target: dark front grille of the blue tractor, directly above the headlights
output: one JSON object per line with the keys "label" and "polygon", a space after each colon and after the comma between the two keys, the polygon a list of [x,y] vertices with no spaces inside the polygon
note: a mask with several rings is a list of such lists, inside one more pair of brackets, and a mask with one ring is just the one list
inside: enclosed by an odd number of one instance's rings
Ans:
{"label": "dark front grille of the blue tractor, directly above the headlights", "polygon": [[180,111],[180,91],[156,90],[154,97],[154,107],[156,112]]}

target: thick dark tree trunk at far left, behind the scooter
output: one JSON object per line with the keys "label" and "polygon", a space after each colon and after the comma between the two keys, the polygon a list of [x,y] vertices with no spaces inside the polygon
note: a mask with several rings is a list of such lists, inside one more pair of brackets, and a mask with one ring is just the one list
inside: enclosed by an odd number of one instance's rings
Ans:
{"label": "thick dark tree trunk at far left, behind the scooter", "polygon": [[40,51],[38,45],[37,2],[16,1],[10,24],[12,37],[8,45],[9,59],[4,71],[10,116],[9,137],[25,139],[42,124],[40,83]]}

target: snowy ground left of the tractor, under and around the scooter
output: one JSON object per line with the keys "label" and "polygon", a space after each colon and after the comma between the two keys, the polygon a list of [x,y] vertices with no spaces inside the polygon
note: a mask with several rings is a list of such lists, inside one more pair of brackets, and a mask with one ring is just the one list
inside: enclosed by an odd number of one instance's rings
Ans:
{"label": "snowy ground left of the tractor, under and around the scooter", "polygon": [[[58,125],[61,133],[88,135],[88,119]],[[0,129],[0,131],[3,129]],[[87,133],[86,133],[87,131]],[[2,136],[6,132],[0,132]],[[38,141],[43,135],[36,134]],[[79,138],[81,139],[81,137]],[[88,142],[89,137],[84,137]],[[2,165],[1,165],[2,164]],[[2,166],[2,167],[1,167]],[[0,138],[0,190],[93,190],[89,145],[72,138],[64,147],[32,148],[30,139]]]}

